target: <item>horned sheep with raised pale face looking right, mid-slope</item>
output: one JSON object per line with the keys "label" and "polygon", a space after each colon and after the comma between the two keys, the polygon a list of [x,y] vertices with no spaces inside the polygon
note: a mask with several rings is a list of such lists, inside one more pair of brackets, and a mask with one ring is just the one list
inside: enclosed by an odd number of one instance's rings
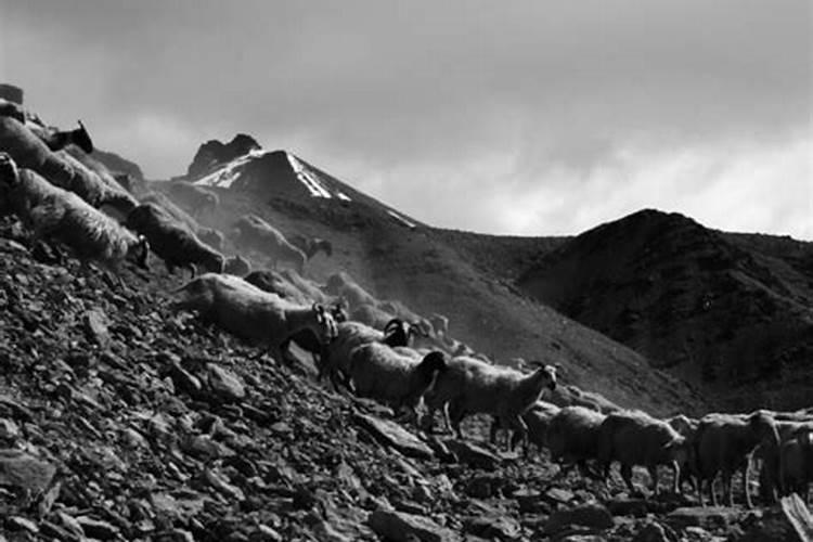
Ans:
{"label": "horned sheep with raised pale face looking right, mid-slope", "polygon": [[427,393],[430,412],[444,411],[459,438],[460,424],[468,414],[491,414],[504,428],[522,434],[527,446],[527,426],[521,415],[535,403],[544,389],[556,388],[556,369],[542,365],[530,374],[498,367],[474,358],[453,358],[438,375]]}

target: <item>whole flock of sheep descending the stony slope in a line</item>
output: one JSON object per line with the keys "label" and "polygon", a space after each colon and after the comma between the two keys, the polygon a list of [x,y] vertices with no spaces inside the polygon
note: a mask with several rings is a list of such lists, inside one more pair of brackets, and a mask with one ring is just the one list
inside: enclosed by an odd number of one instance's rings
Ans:
{"label": "whole flock of sheep descending the stony slope in a line", "polygon": [[[713,481],[722,479],[733,503],[732,478],[743,473],[745,502],[751,459],[760,464],[760,488],[771,500],[788,491],[806,494],[813,479],[813,416],[805,412],[758,411],[747,415],[679,415],[658,420],[628,411],[572,387],[557,386],[556,369],[535,363],[524,372],[490,363],[449,335],[449,320],[413,313],[397,301],[379,301],[345,273],[325,285],[304,276],[323,240],[291,241],[263,219],[245,216],[230,238],[255,250],[273,269],[251,270],[247,259],[222,254],[225,236],[197,218],[217,208],[217,194],[175,182],[138,199],[90,156],[85,127],[59,131],[16,104],[0,100],[0,208],[31,232],[31,243],[56,241],[109,275],[131,261],[149,269],[152,251],[168,271],[189,269],[173,307],[253,341],[287,363],[289,347],[312,354],[319,379],[403,412],[430,430],[440,414],[447,430],[463,437],[466,416],[493,418],[491,441],[505,431],[508,447],[520,440],[550,450],[554,461],[576,465],[584,476],[607,479],[610,465],[630,491],[632,467],[643,466],[659,491],[658,467],[670,466],[674,492],[688,482],[718,503]],[[276,269],[276,264],[286,269]],[[204,271],[197,275],[198,271]],[[119,284],[125,287],[119,279]],[[542,398],[546,400],[543,401]]]}

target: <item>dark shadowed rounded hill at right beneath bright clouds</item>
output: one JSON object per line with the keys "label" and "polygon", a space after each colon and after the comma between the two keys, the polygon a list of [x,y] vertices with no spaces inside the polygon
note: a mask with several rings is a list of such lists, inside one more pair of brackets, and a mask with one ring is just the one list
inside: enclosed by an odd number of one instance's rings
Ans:
{"label": "dark shadowed rounded hill at right beneath bright clouds", "polygon": [[643,210],[542,256],[517,281],[736,409],[808,404],[813,244]]}

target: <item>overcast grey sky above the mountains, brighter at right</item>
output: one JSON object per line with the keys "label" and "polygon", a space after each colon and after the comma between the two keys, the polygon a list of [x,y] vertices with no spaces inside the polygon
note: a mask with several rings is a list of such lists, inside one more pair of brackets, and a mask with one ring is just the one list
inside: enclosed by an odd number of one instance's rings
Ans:
{"label": "overcast grey sky above the mountains, brighter at right", "polygon": [[428,223],[813,240],[810,0],[0,0],[0,81],[151,178],[253,134]]}

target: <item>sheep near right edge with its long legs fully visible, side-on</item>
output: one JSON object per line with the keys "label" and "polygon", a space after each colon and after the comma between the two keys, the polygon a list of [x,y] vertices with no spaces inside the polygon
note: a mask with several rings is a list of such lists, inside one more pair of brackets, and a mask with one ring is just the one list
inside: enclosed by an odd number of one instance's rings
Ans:
{"label": "sheep near right edge with its long legs fully visible, side-on", "polygon": [[760,443],[775,449],[779,447],[779,434],[770,414],[759,411],[748,416],[709,414],[700,420],[694,439],[694,461],[701,505],[706,505],[704,480],[708,480],[711,502],[717,506],[713,480],[720,473],[727,503],[733,506],[732,476],[741,470],[746,504],[749,508],[753,506],[748,491],[749,456]]}

